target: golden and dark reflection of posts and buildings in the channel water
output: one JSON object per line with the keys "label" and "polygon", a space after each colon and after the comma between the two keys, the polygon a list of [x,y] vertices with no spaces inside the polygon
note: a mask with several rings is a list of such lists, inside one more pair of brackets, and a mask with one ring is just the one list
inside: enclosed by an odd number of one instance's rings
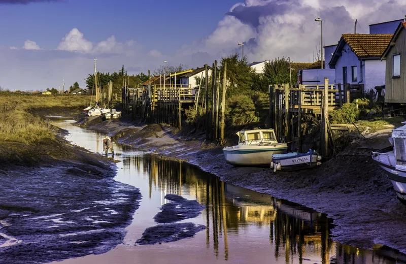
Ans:
{"label": "golden and dark reflection of posts and buildings in the channel water", "polygon": [[[229,236],[255,240],[269,235],[270,250],[285,263],[404,263],[404,255],[392,250],[362,250],[335,243],[330,220],[314,210],[226,184],[196,167],[153,155],[126,155],[123,170],[148,177],[149,198],[154,191],[184,195],[206,205],[206,247],[216,256],[230,258]],[[255,232],[250,232],[255,230]],[[246,243],[247,243],[246,242]],[[378,246],[379,247],[379,246]],[[382,248],[382,247],[381,247]],[[269,251],[269,253],[272,251]]]}

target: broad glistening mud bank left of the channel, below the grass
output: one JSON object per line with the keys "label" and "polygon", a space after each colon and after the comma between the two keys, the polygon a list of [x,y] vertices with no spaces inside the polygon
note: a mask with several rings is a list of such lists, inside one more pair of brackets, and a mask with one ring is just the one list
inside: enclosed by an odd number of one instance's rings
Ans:
{"label": "broad glistening mud bank left of the channel, below the grass", "polygon": [[113,180],[112,161],[60,138],[0,142],[0,163],[0,263],[105,253],[139,206],[139,190]]}

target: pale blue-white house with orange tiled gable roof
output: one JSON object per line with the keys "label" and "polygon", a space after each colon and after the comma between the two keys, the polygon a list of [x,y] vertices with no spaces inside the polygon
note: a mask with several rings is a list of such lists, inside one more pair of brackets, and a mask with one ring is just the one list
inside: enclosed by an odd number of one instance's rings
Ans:
{"label": "pale blue-white house with orange tiled gable roof", "polygon": [[343,34],[328,62],[335,83],[359,86],[365,92],[385,84],[381,55],[393,34]]}

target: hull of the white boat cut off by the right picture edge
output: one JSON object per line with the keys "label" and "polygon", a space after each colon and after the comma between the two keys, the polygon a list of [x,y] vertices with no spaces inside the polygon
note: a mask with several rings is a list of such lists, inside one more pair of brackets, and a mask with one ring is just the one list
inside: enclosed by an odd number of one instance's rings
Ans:
{"label": "hull of the white boat cut off by the right picture edge", "polygon": [[[378,150],[379,153],[390,153],[393,151],[393,147],[385,148]],[[389,155],[389,154],[388,154]],[[381,167],[388,176],[388,179],[391,181],[393,189],[396,192],[397,199],[400,200],[403,204],[406,205],[406,172],[396,170],[394,163],[389,164],[389,162],[384,162],[386,159],[382,158],[381,160],[377,158],[378,156],[373,155],[373,160],[379,167]]]}

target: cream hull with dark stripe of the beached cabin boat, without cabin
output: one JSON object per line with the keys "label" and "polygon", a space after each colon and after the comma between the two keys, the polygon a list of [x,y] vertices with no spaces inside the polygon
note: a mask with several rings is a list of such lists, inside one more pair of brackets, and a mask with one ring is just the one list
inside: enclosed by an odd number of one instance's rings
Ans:
{"label": "cream hull with dark stripe of the beached cabin boat, without cabin", "polygon": [[269,167],[273,154],[283,153],[287,150],[287,145],[263,148],[234,148],[223,149],[227,163],[233,166],[266,166]]}

